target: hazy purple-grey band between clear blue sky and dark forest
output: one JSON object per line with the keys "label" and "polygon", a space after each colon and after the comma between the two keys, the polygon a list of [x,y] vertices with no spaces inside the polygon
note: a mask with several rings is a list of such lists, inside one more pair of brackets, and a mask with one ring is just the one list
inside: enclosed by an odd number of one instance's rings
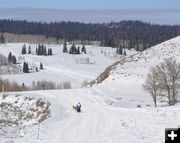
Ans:
{"label": "hazy purple-grey band between clear blue sky and dark forest", "polygon": [[[165,15],[162,17],[162,15]],[[72,21],[83,23],[108,23],[122,20],[141,20],[158,24],[179,24],[179,9],[94,9],[63,10],[38,8],[0,8],[0,19],[28,21]],[[174,17],[176,16],[176,17]],[[173,17],[173,19],[172,19]]]}

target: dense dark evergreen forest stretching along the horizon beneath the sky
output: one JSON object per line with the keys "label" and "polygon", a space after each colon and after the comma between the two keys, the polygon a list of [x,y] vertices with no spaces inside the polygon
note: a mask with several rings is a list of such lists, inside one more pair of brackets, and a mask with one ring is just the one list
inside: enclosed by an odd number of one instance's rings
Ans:
{"label": "dense dark evergreen forest stretching along the horizon beneath the sky", "polygon": [[[153,45],[176,37],[180,26],[158,25],[141,21],[121,21],[102,24],[79,22],[27,22],[20,20],[0,20],[0,32],[15,34],[44,35],[57,40],[100,41],[102,46],[135,48],[142,51]],[[1,34],[0,42],[4,42]]]}

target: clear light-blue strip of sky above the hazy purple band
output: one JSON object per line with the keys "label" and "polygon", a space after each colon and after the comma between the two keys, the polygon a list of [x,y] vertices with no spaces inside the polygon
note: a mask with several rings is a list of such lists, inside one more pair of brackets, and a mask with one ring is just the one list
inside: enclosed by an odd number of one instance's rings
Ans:
{"label": "clear light-blue strip of sky above the hazy purple band", "polygon": [[179,9],[180,0],[0,0],[1,8]]}

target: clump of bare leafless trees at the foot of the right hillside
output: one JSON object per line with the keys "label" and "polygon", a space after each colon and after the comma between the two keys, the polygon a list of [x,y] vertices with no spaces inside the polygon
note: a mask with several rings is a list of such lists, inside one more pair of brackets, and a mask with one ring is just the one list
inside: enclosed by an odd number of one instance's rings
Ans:
{"label": "clump of bare leafless trees at the foot of the right hillside", "polygon": [[150,71],[143,87],[153,97],[155,106],[157,106],[157,91],[166,92],[168,104],[174,105],[177,89],[180,87],[180,64],[172,58],[165,59]]}

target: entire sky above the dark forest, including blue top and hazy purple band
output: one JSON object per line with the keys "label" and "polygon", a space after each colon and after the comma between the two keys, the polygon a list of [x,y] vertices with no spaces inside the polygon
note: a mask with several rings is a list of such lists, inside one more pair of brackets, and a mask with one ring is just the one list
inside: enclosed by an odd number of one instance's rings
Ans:
{"label": "entire sky above the dark forest, including blue top and hazy purple band", "polygon": [[180,0],[0,0],[0,19],[180,24]]}

